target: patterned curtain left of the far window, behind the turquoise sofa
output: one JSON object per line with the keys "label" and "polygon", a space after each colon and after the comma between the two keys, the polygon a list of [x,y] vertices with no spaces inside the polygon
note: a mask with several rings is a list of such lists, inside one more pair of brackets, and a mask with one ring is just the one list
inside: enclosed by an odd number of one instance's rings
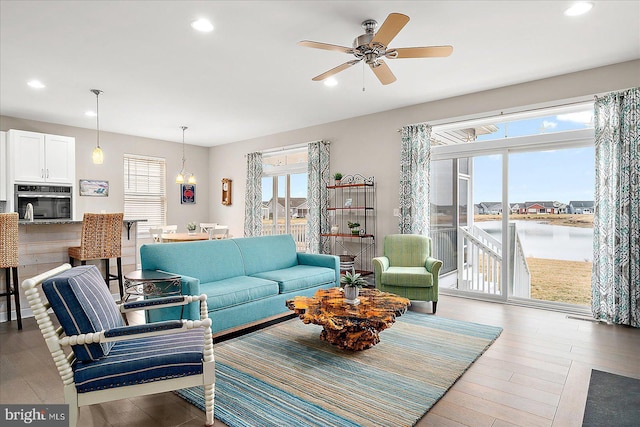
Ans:
{"label": "patterned curtain left of the far window, behind the turquoise sofa", "polygon": [[247,154],[244,235],[245,237],[262,235],[262,153]]}

